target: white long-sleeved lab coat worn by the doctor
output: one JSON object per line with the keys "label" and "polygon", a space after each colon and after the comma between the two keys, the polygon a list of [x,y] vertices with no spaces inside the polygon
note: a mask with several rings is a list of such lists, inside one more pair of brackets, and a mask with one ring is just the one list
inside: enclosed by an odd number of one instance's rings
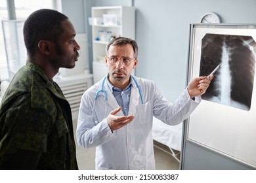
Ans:
{"label": "white long-sleeved lab coat worn by the doctor", "polygon": [[[171,103],[161,95],[154,82],[137,77],[135,79],[140,86],[144,104],[141,103],[139,90],[132,81],[129,115],[135,118],[113,133],[106,117],[119,105],[106,82],[104,90],[107,101],[104,93],[100,92],[95,102],[95,94],[100,90],[102,80],[89,88],[81,98],[77,142],[83,148],[96,147],[96,169],[155,169],[152,116],[166,124],[176,125],[188,118],[201,101],[201,97],[196,97],[196,101],[190,99],[186,89],[175,103]],[[123,116],[123,112],[120,111],[116,116]]]}

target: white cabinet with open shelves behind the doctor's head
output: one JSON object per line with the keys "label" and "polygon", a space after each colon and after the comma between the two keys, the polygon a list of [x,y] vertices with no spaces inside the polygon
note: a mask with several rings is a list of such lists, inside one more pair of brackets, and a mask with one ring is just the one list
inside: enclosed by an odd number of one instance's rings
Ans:
{"label": "white cabinet with open shelves behind the doctor's head", "polygon": [[[135,39],[134,7],[92,7],[93,82],[103,78],[107,69],[104,63],[106,44],[114,37]],[[96,62],[96,63],[95,63]]]}

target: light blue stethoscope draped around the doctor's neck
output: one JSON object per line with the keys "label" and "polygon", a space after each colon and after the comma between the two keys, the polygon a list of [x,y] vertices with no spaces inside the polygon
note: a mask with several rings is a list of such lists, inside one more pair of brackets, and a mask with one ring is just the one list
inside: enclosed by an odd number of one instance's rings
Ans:
{"label": "light blue stethoscope draped around the doctor's neck", "polygon": [[[107,76],[108,76],[108,75],[107,75]],[[95,113],[95,103],[96,103],[96,100],[97,100],[97,98],[100,96],[100,93],[103,93],[103,94],[104,94],[104,99],[105,99],[105,114],[104,114],[104,118],[106,118],[106,101],[108,101],[108,95],[107,95],[106,90],[104,90],[104,84],[105,84],[105,82],[106,82],[107,76],[105,76],[105,77],[103,78],[102,84],[101,84],[101,87],[100,87],[100,90],[98,90],[98,91],[96,92],[96,94],[95,94],[95,101],[94,101],[94,103],[93,103],[93,116],[94,116],[94,113]],[[140,90],[140,86],[139,86],[139,84],[138,84],[138,82],[137,82],[137,80],[135,79],[134,76],[131,75],[131,78],[133,79],[133,81],[135,82],[135,84],[136,84],[136,86],[137,86],[137,88],[138,88],[138,90],[139,90],[141,104],[144,104],[143,97],[142,97],[142,92],[141,92],[141,90]],[[93,117],[93,118],[94,118],[94,117]],[[95,124],[98,124],[98,122],[95,121]]]}

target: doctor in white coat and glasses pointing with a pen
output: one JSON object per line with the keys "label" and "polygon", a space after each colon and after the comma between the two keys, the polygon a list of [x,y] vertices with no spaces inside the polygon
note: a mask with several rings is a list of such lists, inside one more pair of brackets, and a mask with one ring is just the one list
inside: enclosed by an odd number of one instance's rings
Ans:
{"label": "doctor in white coat and glasses pointing with a pen", "polygon": [[165,124],[181,123],[198,106],[213,78],[194,78],[171,103],[154,82],[131,75],[137,56],[135,41],[110,41],[105,57],[109,73],[81,99],[77,141],[83,148],[96,147],[96,169],[155,169],[153,116]]}

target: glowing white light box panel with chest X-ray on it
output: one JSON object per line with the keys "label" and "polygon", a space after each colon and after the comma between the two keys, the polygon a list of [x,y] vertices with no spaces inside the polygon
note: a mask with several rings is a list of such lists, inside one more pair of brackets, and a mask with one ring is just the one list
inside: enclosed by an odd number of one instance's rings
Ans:
{"label": "glowing white light box panel with chest X-ray on it", "polygon": [[188,81],[217,65],[186,139],[256,167],[256,25],[194,24]]}

